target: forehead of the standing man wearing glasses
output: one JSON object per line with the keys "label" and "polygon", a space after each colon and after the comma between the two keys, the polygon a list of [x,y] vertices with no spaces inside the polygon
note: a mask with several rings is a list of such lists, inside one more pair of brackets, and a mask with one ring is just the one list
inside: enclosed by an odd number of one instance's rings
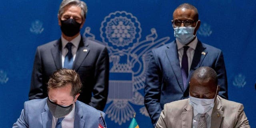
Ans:
{"label": "forehead of the standing man wearing glasses", "polygon": [[173,20],[194,20],[195,15],[192,9],[178,8],[173,12]]}

